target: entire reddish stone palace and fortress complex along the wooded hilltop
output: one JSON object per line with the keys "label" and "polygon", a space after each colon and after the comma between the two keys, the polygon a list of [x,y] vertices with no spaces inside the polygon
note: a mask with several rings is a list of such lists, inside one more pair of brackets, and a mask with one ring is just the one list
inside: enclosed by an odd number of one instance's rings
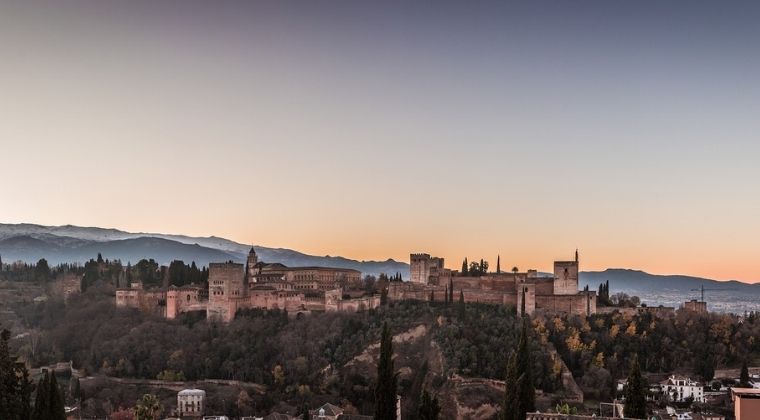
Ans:
{"label": "entire reddish stone palace and fortress complex along the wooded hilltop", "polygon": [[[578,290],[578,252],[572,261],[555,261],[552,275],[536,270],[470,276],[444,267],[442,258],[411,254],[410,281],[390,282],[391,300],[445,301],[459,299],[512,305],[536,311],[590,315],[596,313],[596,292]],[[329,267],[286,267],[260,262],[251,248],[246,264],[209,264],[208,288],[164,287],[145,290],[140,283],[116,291],[117,306],[139,308],[176,318],[204,311],[207,318],[229,322],[239,309],[282,309],[291,314],[311,311],[359,311],[380,305],[380,297],[356,296],[361,273]],[[353,297],[352,297],[353,296]]]}

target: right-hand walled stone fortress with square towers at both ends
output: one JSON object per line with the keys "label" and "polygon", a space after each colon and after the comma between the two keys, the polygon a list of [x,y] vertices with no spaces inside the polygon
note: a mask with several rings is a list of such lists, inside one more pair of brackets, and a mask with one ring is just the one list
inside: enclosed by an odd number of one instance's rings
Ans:
{"label": "right-hand walled stone fortress with square towers at both ends", "polygon": [[525,273],[489,273],[461,276],[442,267],[443,260],[428,254],[411,254],[412,281],[391,283],[388,296],[394,300],[444,301],[453,289],[454,298],[464,295],[466,302],[522,307],[528,314],[540,310],[552,313],[590,315],[596,313],[596,292],[578,290],[579,261],[554,263],[554,275],[542,277],[536,270]]}

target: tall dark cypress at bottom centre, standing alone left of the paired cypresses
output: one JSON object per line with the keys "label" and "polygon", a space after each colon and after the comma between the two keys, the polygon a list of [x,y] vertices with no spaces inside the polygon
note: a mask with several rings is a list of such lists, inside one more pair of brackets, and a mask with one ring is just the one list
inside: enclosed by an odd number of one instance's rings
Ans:
{"label": "tall dark cypress at bottom centre, standing alone left of the paired cypresses", "polygon": [[380,359],[377,363],[375,386],[375,420],[396,419],[396,392],[398,376],[393,369],[393,337],[388,323],[383,323],[380,337]]}

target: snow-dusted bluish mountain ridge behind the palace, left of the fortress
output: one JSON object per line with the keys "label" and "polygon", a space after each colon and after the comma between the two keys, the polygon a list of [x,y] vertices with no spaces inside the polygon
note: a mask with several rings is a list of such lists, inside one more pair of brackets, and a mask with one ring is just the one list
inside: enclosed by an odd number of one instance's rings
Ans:
{"label": "snow-dusted bluish mountain ridge behind the palace, left of the fortress", "polygon": [[[103,258],[135,263],[153,258],[168,264],[172,260],[195,261],[199,265],[232,260],[244,262],[250,245],[218,237],[191,237],[161,233],[132,233],[117,229],[79,226],[42,226],[0,224],[0,256],[3,261],[36,262],[45,258],[50,264],[84,263],[98,253]],[[365,274],[402,273],[409,276],[409,265],[394,260],[356,261],[343,257],[307,255],[284,248],[254,246],[259,259],[287,266],[338,267]]]}

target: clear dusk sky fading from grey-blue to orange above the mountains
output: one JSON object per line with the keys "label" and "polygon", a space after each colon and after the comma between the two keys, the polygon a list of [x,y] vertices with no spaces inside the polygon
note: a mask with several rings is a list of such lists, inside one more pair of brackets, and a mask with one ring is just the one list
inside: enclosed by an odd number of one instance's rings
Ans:
{"label": "clear dusk sky fading from grey-blue to orange above the mountains", "polygon": [[0,222],[760,281],[759,19],[2,1]]}

